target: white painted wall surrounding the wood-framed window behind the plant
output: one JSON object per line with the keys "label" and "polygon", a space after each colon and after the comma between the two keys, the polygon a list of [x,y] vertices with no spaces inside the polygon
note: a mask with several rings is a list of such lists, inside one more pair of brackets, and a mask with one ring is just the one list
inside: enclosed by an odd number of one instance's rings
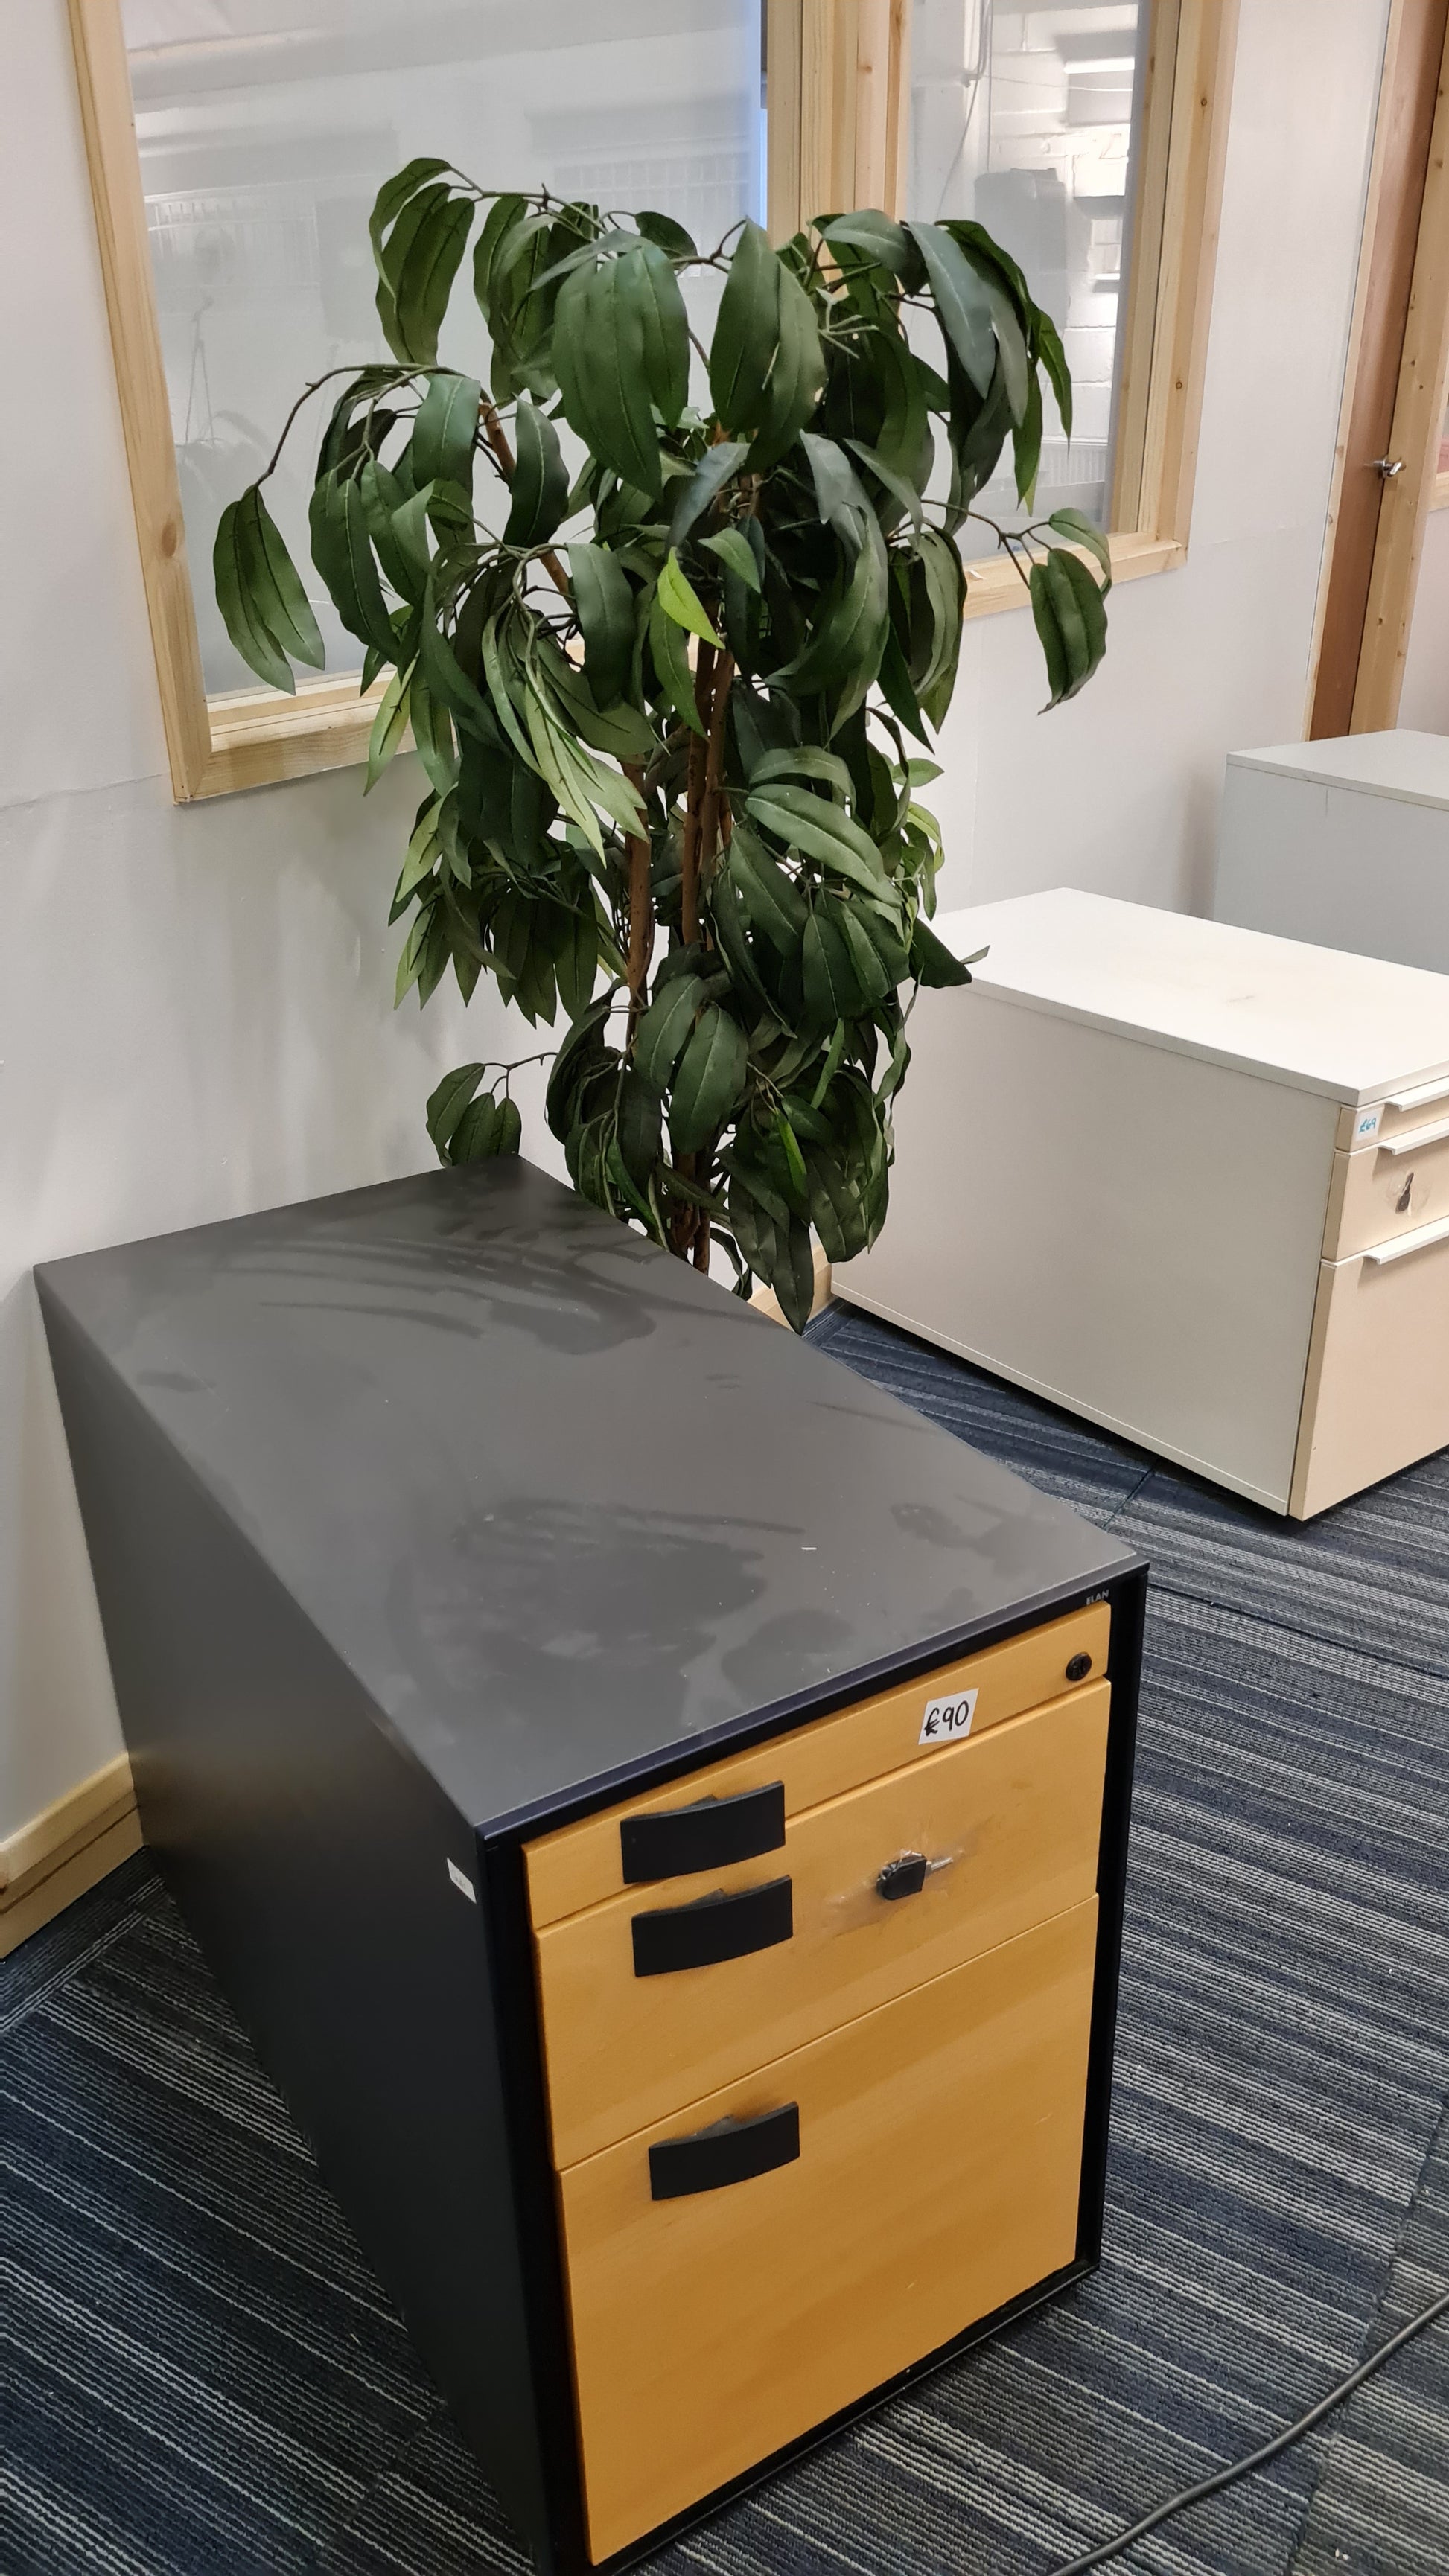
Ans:
{"label": "white painted wall surrounding the wood-framed window behind the plant", "polygon": [[[967,629],[951,904],[1207,909],[1225,752],[1299,726],[1385,5],[1243,0],[1191,562],[1049,719],[1026,618]],[[119,1744],[28,1265],[423,1167],[438,1072],[529,1038],[392,1015],[402,765],[170,804],[64,0],[0,0],[0,118],[3,1837]]]}

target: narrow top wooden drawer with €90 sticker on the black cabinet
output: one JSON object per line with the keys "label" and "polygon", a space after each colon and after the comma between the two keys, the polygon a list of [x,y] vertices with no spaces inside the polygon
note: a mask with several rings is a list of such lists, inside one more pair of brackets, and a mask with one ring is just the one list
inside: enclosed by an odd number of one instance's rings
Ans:
{"label": "narrow top wooden drawer with \u20ac90 sticker on the black cabinet", "polygon": [[781,1850],[786,1816],[1101,1680],[1109,1633],[1111,1610],[1093,1602],[565,1824],[526,1847],[529,1917],[539,1929],[627,1886]]}

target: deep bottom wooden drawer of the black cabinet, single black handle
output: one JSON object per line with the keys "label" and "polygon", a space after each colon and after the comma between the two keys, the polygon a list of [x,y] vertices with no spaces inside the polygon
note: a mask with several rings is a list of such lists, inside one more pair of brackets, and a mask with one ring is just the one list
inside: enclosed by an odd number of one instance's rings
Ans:
{"label": "deep bottom wooden drawer of the black cabinet, single black handle", "polygon": [[608,2558],[1075,2254],[1096,1899],[559,2174]]}

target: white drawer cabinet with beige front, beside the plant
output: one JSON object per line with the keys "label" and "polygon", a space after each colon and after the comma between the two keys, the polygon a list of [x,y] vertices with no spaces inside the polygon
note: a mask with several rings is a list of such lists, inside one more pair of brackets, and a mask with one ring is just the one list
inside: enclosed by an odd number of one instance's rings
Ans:
{"label": "white drawer cabinet with beige front, beside the plant", "polygon": [[936,922],[835,1293],[1310,1517],[1449,1443],[1449,976],[1026,894]]}

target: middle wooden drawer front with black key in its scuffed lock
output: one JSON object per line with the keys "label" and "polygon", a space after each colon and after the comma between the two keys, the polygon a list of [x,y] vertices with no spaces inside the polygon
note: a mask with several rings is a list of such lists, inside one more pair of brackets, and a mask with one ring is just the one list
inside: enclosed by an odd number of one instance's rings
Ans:
{"label": "middle wooden drawer front with black key in its scuffed lock", "polygon": [[[1106,1682],[1088,1682],[792,1816],[784,1852],[706,1883],[724,1906],[701,1906],[699,1880],[670,1880],[539,1932],[554,2164],[578,2164],[1091,1896],[1109,1698]],[[920,1886],[908,1868],[892,1880],[908,1893],[887,1899],[877,1878],[900,1855],[946,1868],[928,1868]],[[779,1937],[781,1899],[789,1937]],[[665,1940],[681,1937],[714,1963],[652,1973]],[[740,1955],[722,1958],[719,1937]]]}

